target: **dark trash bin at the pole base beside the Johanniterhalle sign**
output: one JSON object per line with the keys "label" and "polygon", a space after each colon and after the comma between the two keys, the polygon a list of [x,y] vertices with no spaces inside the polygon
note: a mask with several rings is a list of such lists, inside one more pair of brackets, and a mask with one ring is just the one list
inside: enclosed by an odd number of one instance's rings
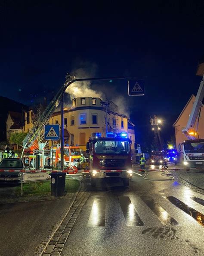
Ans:
{"label": "dark trash bin at the pole base beside the Johanniterhalle sign", "polygon": [[66,173],[51,173],[51,195],[62,196],[65,192]]}

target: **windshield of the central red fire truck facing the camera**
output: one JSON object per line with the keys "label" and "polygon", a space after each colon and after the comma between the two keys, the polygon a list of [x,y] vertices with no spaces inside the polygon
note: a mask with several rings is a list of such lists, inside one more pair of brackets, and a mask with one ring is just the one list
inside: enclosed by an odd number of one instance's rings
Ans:
{"label": "windshield of the central red fire truck facing the camera", "polygon": [[129,154],[129,141],[97,141],[94,145],[96,154]]}

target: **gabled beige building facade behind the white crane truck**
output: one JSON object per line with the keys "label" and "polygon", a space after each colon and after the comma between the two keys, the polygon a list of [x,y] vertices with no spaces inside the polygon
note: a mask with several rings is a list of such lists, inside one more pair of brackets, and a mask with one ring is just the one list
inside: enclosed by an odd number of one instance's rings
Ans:
{"label": "gabled beige building facade behind the white crane truck", "polygon": [[[187,125],[194,102],[195,102],[195,95],[192,95],[189,101],[187,102],[187,104],[185,105],[184,109],[180,113],[179,117],[177,118],[176,122],[173,124],[173,127],[175,128],[177,150],[179,150],[179,143],[182,143],[183,141],[186,140],[185,134],[182,134],[182,129],[185,128],[185,126]],[[198,122],[198,117],[197,117],[196,123],[197,122]],[[204,108],[201,108],[201,115],[199,118],[199,125],[198,125],[198,134],[200,138],[204,138]]]}

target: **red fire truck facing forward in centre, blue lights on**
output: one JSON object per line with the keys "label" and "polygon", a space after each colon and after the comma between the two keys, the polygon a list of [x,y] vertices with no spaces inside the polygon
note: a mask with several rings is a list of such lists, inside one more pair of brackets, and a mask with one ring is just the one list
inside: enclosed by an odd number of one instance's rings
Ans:
{"label": "red fire truck facing forward in centre, blue lights on", "polygon": [[91,186],[99,179],[120,178],[127,187],[133,175],[130,139],[127,133],[106,136],[92,134],[87,142]]}

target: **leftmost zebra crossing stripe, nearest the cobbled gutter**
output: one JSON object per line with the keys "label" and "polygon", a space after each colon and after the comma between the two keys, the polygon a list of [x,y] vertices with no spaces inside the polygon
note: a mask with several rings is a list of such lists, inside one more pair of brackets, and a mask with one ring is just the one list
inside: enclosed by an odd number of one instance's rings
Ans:
{"label": "leftmost zebra crossing stripe, nearest the cobbled gutter", "polygon": [[105,204],[102,196],[94,199],[87,227],[105,227]]}

